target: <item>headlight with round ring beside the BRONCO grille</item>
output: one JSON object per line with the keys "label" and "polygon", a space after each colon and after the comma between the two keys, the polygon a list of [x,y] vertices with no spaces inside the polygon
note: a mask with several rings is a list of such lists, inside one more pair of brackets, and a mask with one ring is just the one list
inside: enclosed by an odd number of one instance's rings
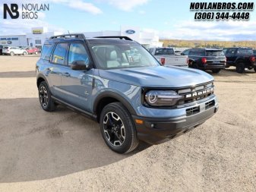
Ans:
{"label": "headlight with round ring beside the BRONCO grille", "polygon": [[146,93],[145,99],[149,105],[172,106],[182,99],[182,96],[173,90],[150,90]]}

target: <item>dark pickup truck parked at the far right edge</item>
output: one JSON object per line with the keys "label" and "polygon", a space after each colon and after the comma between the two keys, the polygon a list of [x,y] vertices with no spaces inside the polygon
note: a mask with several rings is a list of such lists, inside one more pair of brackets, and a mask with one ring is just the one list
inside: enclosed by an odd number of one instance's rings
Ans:
{"label": "dark pickup truck parked at the far right edge", "polygon": [[251,48],[232,47],[223,49],[223,52],[226,55],[226,68],[235,66],[238,73],[245,72],[245,68],[254,68],[256,72],[255,55]]}

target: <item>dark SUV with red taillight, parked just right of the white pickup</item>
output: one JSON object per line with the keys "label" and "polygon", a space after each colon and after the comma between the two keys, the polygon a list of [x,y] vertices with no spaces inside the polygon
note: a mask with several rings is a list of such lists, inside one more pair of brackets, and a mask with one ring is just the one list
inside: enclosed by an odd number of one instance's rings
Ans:
{"label": "dark SUV with red taillight, parked just right of the white pickup", "polygon": [[226,65],[226,57],[222,49],[192,48],[186,49],[181,55],[188,55],[189,68],[211,70],[217,74]]}

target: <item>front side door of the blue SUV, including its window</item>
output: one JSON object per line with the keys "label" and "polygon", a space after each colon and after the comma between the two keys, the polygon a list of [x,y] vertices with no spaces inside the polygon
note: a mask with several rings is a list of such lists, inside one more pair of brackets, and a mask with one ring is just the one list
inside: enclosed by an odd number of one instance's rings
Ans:
{"label": "front side door of the blue SUV, including its window", "polygon": [[65,102],[84,111],[91,109],[91,94],[93,90],[93,73],[90,70],[73,70],[71,63],[73,61],[84,61],[90,64],[84,43],[71,42],[68,51],[68,65],[62,68],[62,98]]}

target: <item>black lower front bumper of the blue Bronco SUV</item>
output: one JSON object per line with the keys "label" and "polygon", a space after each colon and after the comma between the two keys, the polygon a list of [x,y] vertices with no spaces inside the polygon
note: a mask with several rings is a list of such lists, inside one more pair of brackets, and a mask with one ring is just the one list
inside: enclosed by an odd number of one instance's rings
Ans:
{"label": "black lower front bumper of the blue Bronco SUV", "polygon": [[[137,136],[140,140],[144,140],[147,143],[163,143],[203,124],[204,121],[218,111],[218,108],[219,106],[216,103],[216,105],[213,105],[209,109],[202,107],[202,110],[194,115],[184,115],[176,118],[144,118],[133,116]],[[136,119],[142,120],[143,124],[137,124]]]}

